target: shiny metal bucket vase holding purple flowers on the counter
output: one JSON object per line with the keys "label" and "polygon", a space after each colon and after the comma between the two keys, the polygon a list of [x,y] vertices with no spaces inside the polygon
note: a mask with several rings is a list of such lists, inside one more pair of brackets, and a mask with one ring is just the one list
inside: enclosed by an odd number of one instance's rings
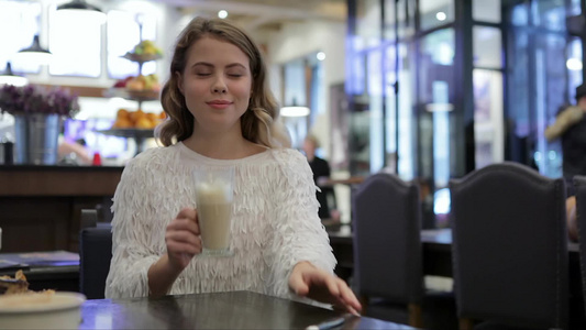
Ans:
{"label": "shiny metal bucket vase holding purple flowers on the counter", "polygon": [[58,114],[14,116],[15,164],[55,165],[62,120]]}

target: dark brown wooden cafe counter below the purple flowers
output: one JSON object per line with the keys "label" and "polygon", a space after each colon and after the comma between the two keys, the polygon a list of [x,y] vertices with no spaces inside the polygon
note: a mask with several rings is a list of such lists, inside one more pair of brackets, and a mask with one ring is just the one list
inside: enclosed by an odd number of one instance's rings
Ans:
{"label": "dark brown wooden cafe counter below the purple flowers", "polygon": [[124,167],[0,165],[2,252],[78,252],[81,209],[109,208]]}

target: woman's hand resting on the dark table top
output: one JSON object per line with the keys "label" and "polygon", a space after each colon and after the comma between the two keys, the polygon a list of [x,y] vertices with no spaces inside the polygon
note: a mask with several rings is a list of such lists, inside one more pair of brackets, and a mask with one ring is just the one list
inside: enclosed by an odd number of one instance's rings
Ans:
{"label": "woman's hand resting on the dark table top", "polygon": [[332,304],[334,308],[341,308],[354,315],[358,315],[362,310],[361,302],[344,280],[309,262],[295,265],[289,276],[289,288],[299,296]]}

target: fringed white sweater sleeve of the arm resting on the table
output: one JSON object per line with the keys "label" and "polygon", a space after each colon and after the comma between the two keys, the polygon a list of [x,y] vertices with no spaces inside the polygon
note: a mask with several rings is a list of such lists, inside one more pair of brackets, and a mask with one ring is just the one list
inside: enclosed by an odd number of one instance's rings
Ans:
{"label": "fringed white sweater sleeve of the arm resting on the table", "polygon": [[275,194],[274,294],[296,298],[288,282],[297,263],[308,261],[333,274],[336,262],[318,217],[317,187],[307,160],[292,150],[281,151],[276,156],[281,173],[277,174]]}

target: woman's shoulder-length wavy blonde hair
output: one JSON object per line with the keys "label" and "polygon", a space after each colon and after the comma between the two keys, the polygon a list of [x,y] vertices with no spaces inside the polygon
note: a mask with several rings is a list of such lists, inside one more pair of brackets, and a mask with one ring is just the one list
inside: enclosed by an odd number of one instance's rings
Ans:
{"label": "woman's shoulder-length wavy blonde hair", "polygon": [[167,120],[157,127],[155,138],[169,146],[174,141],[184,141],[194,133],[195,118],[179,90],[180,75],[177,73],[184,73],[189,48],[204,36],[229,42],[248,57],[253,84],[248,109],[240,119],[244,139],[267,147],[289,147],[289,135],[278,120],[279,108],[268,88],[266,64],[258,46],[243,30],[225,20],[204,18],[191,20],[177,38],[169,79],[161,95]]}

